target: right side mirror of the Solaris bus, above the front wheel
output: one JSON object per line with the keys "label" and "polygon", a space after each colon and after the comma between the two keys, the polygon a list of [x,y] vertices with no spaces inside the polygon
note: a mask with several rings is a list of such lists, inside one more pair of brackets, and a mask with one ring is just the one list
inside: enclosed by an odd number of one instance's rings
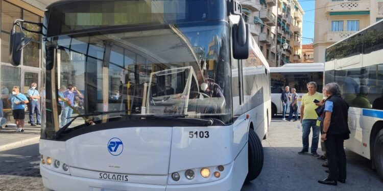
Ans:
{"label": "right side mirror of the Solaris bus, above the front wheel", "polygon": [[246,24],[242,17],[238,24],[233,25],[232,34],[234,59],[249,58],[249,24]]}

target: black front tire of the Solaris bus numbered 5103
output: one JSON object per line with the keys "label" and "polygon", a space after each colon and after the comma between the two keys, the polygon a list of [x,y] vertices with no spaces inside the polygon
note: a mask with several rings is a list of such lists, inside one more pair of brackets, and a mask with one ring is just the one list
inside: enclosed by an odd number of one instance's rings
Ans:
{"label": "black front tire of the Solaris bus numbered 5103", "polygon": [[251,128],[249,129],[248,149],[249,172],[245,181],[251,181],[257,178],[264,166],[264,148],[257,134],[255,134]]}

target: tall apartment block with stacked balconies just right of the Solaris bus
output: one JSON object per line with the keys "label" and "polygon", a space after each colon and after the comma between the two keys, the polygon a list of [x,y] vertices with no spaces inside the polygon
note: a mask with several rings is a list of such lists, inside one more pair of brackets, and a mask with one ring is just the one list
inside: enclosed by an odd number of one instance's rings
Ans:
{"label": "tall apartment block with stacked balconies just right of the Solaris bus", "polygon": [[[296,0],[240,0],[245,22],[271,67],[299,62],[303,10]],[[283,44],[287,44],[283,48]],[[280,56],[279,56],[280,55]]]}

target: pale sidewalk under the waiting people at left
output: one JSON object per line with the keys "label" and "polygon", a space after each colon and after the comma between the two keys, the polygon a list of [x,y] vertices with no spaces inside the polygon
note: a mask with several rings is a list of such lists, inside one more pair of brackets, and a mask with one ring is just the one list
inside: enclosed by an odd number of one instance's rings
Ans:
{"label": "pale sidewalk under the waiting people at left", "polygon": [[16,127],[4,127],[0,129],[0,151],[32,145],[39,142],[40,125],[31,126],[26,120],[24,132],[15,132]]}

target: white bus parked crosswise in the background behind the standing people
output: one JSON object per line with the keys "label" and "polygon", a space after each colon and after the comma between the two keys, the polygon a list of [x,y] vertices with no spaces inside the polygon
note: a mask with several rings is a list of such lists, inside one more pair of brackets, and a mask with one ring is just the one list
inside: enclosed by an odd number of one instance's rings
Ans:
{"label": "white bus parked crosswise in the background behind the standing people", "polygon": [[[272,116],[282,114],[281,94],[285,86],[296,89],[298,94],[298,114],[302,95],[307,93],[306,84],[310,81],[315,81],[318,85],[317,91],[322,92],[323,88],[323,63],[292,63],[285,64],[281,67],[270,67],[271,73],[271,113]],[[287,114],[290,108],[287,110]],[[284,118],[284,117],[282,117]]]}

